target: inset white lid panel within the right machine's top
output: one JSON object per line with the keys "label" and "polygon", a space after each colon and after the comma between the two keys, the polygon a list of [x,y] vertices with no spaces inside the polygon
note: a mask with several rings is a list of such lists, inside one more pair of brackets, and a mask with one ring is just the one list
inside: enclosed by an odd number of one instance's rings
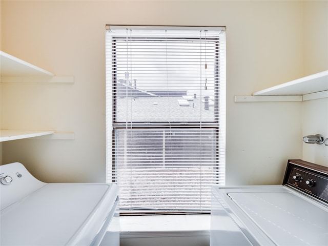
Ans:
{"label": "inset white lid panel within the right machine's top", "polygon": [[328,245],[328,209],[290,192],[228,194],[276,245]]}

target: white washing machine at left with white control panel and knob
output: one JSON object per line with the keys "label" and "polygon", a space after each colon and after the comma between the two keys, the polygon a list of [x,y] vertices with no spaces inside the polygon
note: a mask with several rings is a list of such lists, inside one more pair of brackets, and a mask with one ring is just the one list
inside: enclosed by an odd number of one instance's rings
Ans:
{"label": "white washing machine at left with white control panel and knob", "polygon": [[105,234],[119,245],[115,183],[45,183],[19,162],[0,166],[0,181],[0,245],[100,245]]}

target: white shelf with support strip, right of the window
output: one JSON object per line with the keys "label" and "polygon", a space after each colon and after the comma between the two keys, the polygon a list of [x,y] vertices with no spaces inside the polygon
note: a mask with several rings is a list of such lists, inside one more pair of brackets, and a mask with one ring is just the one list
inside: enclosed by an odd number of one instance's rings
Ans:
{"label": "white shelf with support strip, right of the window", "polygon": [[305,101],[328,97],[328,70],[257,91],[253,96],[235,96],[235,102]]}

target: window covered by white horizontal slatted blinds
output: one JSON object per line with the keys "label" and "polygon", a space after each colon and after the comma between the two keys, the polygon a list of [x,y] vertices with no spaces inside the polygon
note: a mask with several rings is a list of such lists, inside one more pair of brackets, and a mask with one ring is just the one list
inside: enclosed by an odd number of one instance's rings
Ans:
{"label": "window covered by white horizontal slatted blinds", "polygon": [[106,27],[107,181],[121,211],[209,211],[225,183],[224,28]]}

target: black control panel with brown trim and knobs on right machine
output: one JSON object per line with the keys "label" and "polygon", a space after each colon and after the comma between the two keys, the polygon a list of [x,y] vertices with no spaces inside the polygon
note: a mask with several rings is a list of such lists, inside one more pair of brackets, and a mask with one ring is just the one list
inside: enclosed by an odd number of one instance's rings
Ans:
{"label": "black control panel with brown trim and knobs on right machine", "polygon": [[328,203],[328,168],[303,160],[289,160],[283,185]]}

